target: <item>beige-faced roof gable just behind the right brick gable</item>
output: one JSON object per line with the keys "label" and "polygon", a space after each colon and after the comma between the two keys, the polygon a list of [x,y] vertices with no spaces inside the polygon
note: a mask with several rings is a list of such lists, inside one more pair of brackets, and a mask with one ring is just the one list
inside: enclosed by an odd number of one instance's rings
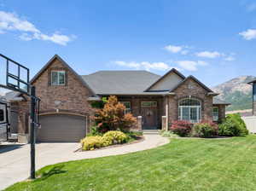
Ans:
{"label": "beige-faced roof gable just behind the right brick gable", "polygon": [[156,91],[156,90],[172,90],[177,84],[180,84],[185,77],[181,72],[178,72],[175,68],[172,68],[169,72],[166,72],[161,78],[151,84],[145,91]]}

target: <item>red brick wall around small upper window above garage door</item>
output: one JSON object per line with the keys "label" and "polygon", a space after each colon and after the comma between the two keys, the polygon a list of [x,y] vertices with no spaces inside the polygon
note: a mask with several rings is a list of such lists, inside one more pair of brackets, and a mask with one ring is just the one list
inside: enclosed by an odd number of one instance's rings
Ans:
{"label": "red brick wall around small upper window above garage door", "polygon": [[[51,86],[49,84],[49,73],[52,69],[67,71],[67,84],[65,86]],[[61,61],[55,59],[52,64],[34,81],[36,95],[41,99],[40,113],[53,113],[56,109],[68,113],[91,114],[93,113],[90,103],[87,101],[92,96],[90,90],[84,87],[73,72],[69,71]],[[27,116],[29,113],[30,101],[20,101],[19,107],[19,127],[20,133],[27,132]],[[61,104],[56,104],[60,102]],[[14,103],[12,104],[14,105]]]}

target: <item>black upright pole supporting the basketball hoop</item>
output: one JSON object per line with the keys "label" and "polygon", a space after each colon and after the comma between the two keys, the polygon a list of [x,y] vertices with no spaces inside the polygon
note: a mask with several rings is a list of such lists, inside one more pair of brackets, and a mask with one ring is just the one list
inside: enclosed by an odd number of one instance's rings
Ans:
{"label": "black upright pole supporting the basketball hoop", "polygon": [[35,96],[36,89],[34,86],[31,87],[31,112],[30,112],[30,155],[31,155],[31,171],[30,178],[35,179]]}

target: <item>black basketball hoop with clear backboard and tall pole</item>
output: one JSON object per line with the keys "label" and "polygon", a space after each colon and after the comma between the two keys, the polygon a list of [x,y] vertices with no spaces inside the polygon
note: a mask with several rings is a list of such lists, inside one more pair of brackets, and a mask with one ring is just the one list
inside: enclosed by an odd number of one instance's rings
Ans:
{"label": "black basketball hoop with clear backboard and tall pole", "polygon": [[[39,104],[40,99],[36,96],[36,89],[29,83],[29,69],[20,63],[11,60],[9,57],[0,54],[0,70],[5,70],[5,75],[0,75],[0,87],[8,90],[18,91],[31,98],[31,130],[30,130],[30,144],[31,144],[31,178],[35,179],[35,126],[38,127],[39,120]],[[4,73],[3,73],[4,74]],[[4,109],[3,109],[4,107]],[[3,111],[2,111],[3,109]],[[1,118],[2,117],[2,118]],[[3,120],[1,120],[3,119]],[[7,104],[0,102],[0,125],[1,123],[9,125],[9,117]]]}

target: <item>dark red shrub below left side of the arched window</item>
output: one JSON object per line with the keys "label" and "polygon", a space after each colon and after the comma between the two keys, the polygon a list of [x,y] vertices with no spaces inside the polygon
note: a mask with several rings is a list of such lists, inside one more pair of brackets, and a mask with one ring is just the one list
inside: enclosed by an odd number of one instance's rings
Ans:
{"label": "dark red shrub below left side of the arched window", "polygon": [[188,121],[173,121],[171,130],[173,133],[177,134],[178,136],[189,136],[189,133],[192,130],[193,124],[189,123]]}

